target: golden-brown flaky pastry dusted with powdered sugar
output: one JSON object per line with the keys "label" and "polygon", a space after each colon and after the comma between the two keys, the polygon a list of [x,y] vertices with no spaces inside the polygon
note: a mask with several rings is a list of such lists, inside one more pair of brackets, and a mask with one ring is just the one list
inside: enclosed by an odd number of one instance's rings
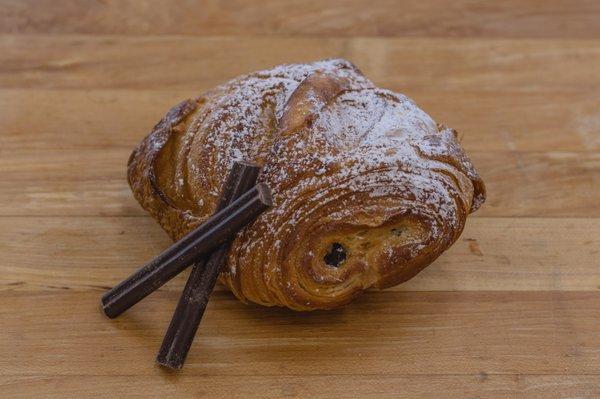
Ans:
{"label": "golden-brown flaky pastry dusted with powdered sugar", "polygon": [[236,236],[220,279],[267,306],[332,309],[402,283],[485,198],[454,130],[345,60],[279,66],[182,102],[134,150],[128,178],[177,240],[213,213],[236,159],[263,165],[274,207]]}

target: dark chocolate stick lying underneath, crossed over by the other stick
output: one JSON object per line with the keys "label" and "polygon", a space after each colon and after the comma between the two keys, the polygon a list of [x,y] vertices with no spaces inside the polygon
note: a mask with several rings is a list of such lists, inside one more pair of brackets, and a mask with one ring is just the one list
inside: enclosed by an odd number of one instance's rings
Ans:
{"label": "dark chocolate stick lying underneath, crossed over by the other stick", "polygon": [[[221,195],[223,206],[250,189],[256,181],[260,168],[244,166],[244,168],[234,166],[232,169]],[[183,366],[230,244],[231,242],[221,244],[211,253],[206,262],[196,263],[192,267],[156,357],[158,364],[175,369]]]}

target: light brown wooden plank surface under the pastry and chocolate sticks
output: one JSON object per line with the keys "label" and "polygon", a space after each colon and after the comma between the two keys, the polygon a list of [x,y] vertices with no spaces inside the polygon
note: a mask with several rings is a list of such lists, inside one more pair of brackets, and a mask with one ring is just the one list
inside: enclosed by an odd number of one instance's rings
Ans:
{"label": "light brown wooden plank surface under the pastry and chocolate sticks", "polygon": [[[0,0],[0,397],[600,397],[599,20],[595,0]],[[327,57],[459,130],[487,203],[344,309],[217,288],[185,368],[158,368],[185,274],[99,309],[169,244],[129,153],[182,99]]]}

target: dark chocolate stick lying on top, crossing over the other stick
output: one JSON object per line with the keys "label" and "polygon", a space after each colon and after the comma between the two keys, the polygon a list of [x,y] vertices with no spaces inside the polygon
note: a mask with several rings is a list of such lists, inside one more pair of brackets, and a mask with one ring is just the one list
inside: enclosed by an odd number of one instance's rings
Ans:
{"label": "dark chocolate stick lying on top, crossing over the other stick", "polygon": [[257,184],[108,291],[102,297],[104,313],[110,318],[117,317],[197,261],[200,256],[233,237],[271,205],[269,188],[264,183]]}

